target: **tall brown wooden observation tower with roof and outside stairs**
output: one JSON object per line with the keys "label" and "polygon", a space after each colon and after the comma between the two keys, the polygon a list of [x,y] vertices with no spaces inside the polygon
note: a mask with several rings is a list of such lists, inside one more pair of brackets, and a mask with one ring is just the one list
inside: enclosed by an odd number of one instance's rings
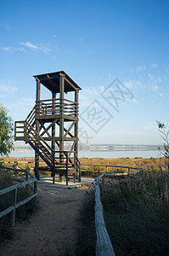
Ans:
{"label": "tall brown wooden observation tower with roof and outside stairs", "polygon": [[[70,175],[81,181],[81,163],[78,160],[78,93],[81,88],[64,72],[34,76],[37,98],[34,108],[24,121],[15,122],[15,141],[25,141],[35,150],[35,176],[39,171],[50,171],[66,183]],[[51,99],[41,100],[41,84],[51,91]],[[73,100],[66,99],[69,92]],[[71,93],[71,95],[72,95]],[[69,150],[65,150],[68,147]],[[39,157],[46,166],[39,166]]]}

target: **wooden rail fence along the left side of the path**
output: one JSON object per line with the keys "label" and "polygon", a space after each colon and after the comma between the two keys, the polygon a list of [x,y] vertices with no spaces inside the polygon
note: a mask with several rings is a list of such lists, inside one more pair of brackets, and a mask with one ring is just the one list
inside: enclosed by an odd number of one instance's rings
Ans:
{"label": "wooden rail fence along the left side of the path", "polygon": [[[0,190],[0,196],[1,195],[5,195],[8,192],[12,192],[12,202],[11,202],[11,206],[8,207],[7,209],[5,209],[3,212],[0,212],[0,218],[2,218],[3,216],[7,215],[8,213],[11,214],[11,218],[10,218],[10,224],[11,226],[14,226],[15,223],[15,210],[18,207],[21,207],[23,205],[25,205],[25,203],[27,203],[28,201],[31,201],[31,199],[35,198],[37,196],[37,178],[34,177],[31,172],[29,172],[28,170],[22,170],[22,169],[14,169],[14,168],[8,168],[6,166],[2,166],[2,169],[6,169],[8,171],[14,171],[14,172],[25,172],[25,181],[22,181],[18,184],[12,185],[6,189],[2,189]],[[30,176],[30,178],[29,178]],[[34,183],[34,186],[32,187],[30,184]],[[25,200],[22,200],[20,202],[17,202],[17,190],[20,187],[23,187],[25,185],[28,185],[31,187],[31,190],[33,192],[32,195],[28,196]]]}

